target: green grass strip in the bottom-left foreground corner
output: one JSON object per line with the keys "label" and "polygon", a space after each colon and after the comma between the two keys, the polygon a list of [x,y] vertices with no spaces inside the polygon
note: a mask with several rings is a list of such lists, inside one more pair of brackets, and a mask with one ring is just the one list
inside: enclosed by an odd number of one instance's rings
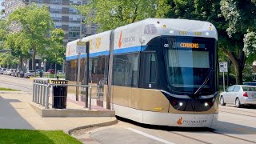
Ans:
{"label": "green grass strip in the bottom-left foreground corner", "polygon": [[61,130],[8,130],[0,129],[0,143],[72,143],[81,144],[76,138]]}

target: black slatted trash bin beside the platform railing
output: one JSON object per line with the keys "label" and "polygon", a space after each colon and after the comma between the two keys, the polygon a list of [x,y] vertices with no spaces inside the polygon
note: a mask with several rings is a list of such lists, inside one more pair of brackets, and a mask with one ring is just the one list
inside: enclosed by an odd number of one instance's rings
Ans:
{"label": "black slatted trash bin beside the platform railing", "polygon": [[[66,80],[52,80],[54,84],[67,84]],[[53,108],[66,109],[67,86],[53,86]]]}

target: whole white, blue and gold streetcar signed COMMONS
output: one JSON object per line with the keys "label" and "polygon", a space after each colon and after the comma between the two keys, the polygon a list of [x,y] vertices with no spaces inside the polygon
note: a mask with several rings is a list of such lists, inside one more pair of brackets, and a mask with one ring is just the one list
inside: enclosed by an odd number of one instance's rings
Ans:
{"label": "whole white, blue and gold streetcar signed COMMONS", "polygon": [[[135,122],[214,127],[218,122],[218,34],[213,24],[148,18],[69,42],[66,79],[76,81],[77,42],[90,42],[90,84],[98,105]],[[86,74],[82,54],[81,82]]]}

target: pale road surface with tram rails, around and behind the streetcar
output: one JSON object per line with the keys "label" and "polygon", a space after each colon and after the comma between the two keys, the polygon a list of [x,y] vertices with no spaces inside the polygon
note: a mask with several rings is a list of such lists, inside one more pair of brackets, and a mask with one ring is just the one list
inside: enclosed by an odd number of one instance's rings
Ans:
{"label": "pale road surface with tram rails, around and behind the streetcar", "polygon": [[[0,87],[32,93],[32,82],[25,78],[0,75]],[[214,130],[148,126],[120,118],[114,126],[80,131],[79,135],[81,138],[94,139],[86,143],[103,144],[256,143],[256,108],[219,106],[218,126]]]}

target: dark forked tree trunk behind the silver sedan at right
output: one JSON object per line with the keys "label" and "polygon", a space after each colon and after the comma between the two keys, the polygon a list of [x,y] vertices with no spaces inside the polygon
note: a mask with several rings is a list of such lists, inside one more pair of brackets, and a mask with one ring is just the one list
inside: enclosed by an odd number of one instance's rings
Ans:
{"label": "dark forked tree trunk behind the silver sedan at right", "polygon": [[246,55],[242,49],[238,50],[238,57],[231,51],[223,51],[234,65],[235,82],[237,85],[242,85],[242,71],[246,62]]}

